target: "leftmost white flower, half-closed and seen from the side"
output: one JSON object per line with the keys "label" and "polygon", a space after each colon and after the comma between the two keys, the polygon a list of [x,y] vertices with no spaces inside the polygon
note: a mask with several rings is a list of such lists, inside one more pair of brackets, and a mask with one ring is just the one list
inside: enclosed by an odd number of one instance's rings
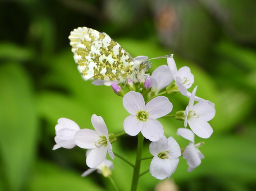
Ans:
{"label": "leftmost white flower, half-closed and seen from the side", "polygon": [[72,149],[76,146],[74,143],[74,134],[80,130],[80,127],[72,120],[66,118],[58,119],[58,124],[55,126],[56,137],[54,140],[53,150],[58,148]]}

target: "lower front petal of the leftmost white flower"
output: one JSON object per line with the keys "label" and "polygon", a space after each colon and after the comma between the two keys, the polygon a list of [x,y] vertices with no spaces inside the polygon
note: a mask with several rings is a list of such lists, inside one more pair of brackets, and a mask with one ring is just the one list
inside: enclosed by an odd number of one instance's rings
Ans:
{"label": "lower front petal of the leftmost white flower", "polygon": [[74,134],[77,131],[74,129],[61,129],[60,131],[56,132],[56,137],[54,137],[55,142],[57,145],[60,145],[66,149],[72,149],[76,147],[74,143]]}

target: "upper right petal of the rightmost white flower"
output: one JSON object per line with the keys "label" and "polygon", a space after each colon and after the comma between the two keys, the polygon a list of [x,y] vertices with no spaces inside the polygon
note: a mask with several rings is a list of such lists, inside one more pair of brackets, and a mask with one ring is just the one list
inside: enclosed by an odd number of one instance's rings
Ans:
{"label": "upper right petal of the rightmost white flower", "polygon": [[196,115],[199,115],[199,118],[204,121],[210,121],[215,116],[214,105],[209,104],[209,101],[200,101],[196,103],[192,110],[196,112]]}

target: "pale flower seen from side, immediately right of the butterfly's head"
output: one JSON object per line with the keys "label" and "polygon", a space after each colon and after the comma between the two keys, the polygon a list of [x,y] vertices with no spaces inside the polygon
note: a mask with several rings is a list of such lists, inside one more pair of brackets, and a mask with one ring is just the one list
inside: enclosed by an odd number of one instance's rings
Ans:
{"label": "pale flower seen from side, immediately right of the butterfly's head", "polygon": [[149,78],[151,79],[152,91],[155,94],[158,94],[160,90],[167,87],[174,80],[170,69],[166,65],[157,67]]}

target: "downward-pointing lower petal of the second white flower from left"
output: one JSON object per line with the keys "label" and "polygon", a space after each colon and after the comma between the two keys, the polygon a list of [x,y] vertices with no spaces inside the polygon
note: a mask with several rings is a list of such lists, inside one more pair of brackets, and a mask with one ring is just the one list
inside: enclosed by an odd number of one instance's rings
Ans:
{"label": "downward-pointing lower petal of the second white flower from left", "polygon": [[86,157],[86,165],[90,168],[96,168],[99,166],[105,159],[107,155],[107,147],[100,146],[92,149],[89,155]]}

